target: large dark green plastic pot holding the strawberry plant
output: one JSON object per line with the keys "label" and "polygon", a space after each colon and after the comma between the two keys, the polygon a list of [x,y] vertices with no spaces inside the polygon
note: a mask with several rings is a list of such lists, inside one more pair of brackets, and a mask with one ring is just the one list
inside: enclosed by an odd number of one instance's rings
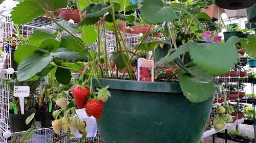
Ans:
{"label": "large dark green plastic pot holding the strawberry plant", "polygon": [[[112,97],[97,120],[103,142],[198,143],[209,119],[213,96],[193,104],[179,83],[99,79]],[[99,87],[94,80],[93,85]],[[203,95],[202,95],[203,96]]]}

